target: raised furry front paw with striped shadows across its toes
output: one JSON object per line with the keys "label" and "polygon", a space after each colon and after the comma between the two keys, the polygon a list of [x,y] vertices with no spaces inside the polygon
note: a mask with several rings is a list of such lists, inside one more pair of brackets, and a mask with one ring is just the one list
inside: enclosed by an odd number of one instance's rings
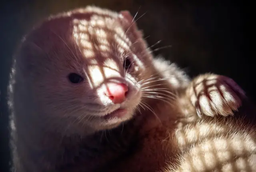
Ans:
{"label": "raised furry front paw with striped shadows across its toes", "polygon": [[196,77],[187,91],[199,117],[233,115],[245,97],[244,90],[234,80],[216,74]]}

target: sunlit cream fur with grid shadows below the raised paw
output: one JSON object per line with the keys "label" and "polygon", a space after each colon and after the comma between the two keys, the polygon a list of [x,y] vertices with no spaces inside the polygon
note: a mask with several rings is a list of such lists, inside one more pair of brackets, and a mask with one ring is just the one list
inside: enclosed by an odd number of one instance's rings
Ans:
{"label": "sunlit cream fur with grid shadows below the raised paw", "polygon": [[[253,172],[256,170],[256,137],[235,122],[198,122],[176,131],[180,158],[165,172]],[[236,130],[235,130],[236,129]]]}

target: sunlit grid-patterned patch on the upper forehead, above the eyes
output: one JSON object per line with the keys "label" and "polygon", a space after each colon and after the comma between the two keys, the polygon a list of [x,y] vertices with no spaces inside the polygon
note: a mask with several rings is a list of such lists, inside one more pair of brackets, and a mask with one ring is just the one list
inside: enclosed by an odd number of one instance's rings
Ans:
{"label": "sunlit grid-patterned patch on the upper forehead, above the eyes", "polygon": [[102,14],[92,14],[89,20],[73,20],[73,37],[84,58],[96,55],[107,58],[113,54],[122,56],[124,52],[131,51],[132,43],[118,24],[118,15],[111,14],[109,17],[108,14],[106,17]]}

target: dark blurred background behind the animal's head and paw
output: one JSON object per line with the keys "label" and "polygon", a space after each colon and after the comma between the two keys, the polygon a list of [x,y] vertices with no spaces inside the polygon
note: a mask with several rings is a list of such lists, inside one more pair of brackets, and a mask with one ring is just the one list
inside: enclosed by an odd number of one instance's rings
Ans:
{"label": "dark blurred background behind the animal's head and paw", "polygon": [[[8,172],[8,109],[6,87],[12,54],[22,35],[49,14],[95,4],[112,10],[138,12],[138,27],[155,51],[190,76],[214,72],[233,78],[255,100],[254,55],[250,38],[255,19],[252,3],[228,0],[8,0],[0,3],[0,172]],[[251,24],[252,23],[252,24]],[[154,49],[153,48],[153,49]]]}

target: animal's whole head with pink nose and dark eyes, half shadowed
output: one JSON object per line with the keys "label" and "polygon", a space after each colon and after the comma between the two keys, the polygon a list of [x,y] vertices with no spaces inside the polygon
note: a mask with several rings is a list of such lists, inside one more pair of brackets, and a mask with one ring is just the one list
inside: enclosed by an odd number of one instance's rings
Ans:
{"label": "animal's whole head with pink nose and dark eyes, half shadowed", "polygon": [[33,104],[32,116],[56,128],[110,129],[132,118],[154,70],[128,11],[88,6],[52,16],[24,37],[16,90],[25,91],[16,102]]}

